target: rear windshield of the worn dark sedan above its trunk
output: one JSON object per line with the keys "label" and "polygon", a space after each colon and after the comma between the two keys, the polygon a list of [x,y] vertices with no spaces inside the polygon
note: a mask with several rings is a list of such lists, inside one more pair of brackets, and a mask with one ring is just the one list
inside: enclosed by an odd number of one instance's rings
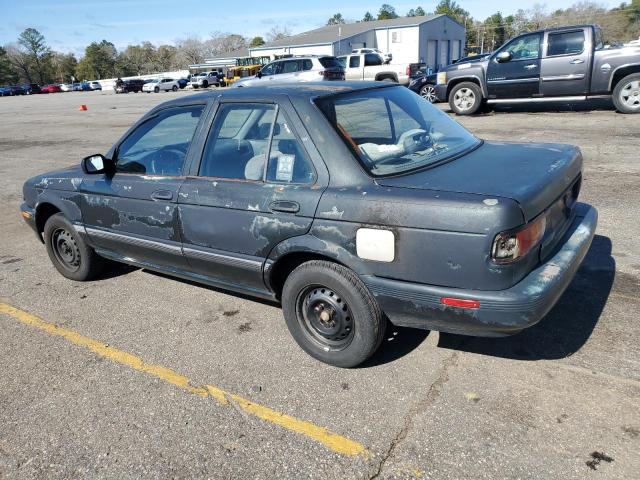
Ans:
{"label": "rear windshield of the worn dark sedan above its trunk", "polygon": [[480,142],[446,113],[404,87],[356,91],[316,103],[375,176],[432,165]]}

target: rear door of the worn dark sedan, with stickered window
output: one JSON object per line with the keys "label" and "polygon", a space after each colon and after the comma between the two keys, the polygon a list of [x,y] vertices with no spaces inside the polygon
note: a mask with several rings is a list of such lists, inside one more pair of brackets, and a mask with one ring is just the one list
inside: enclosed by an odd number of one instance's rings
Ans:
{"label": "rear door of the worn dark sedan, with stickered window", "polygon": [[309,230],[327,183],[326,167],[286,97],[222,101],[178,199],[192,271],[266,294],[269,252]]}

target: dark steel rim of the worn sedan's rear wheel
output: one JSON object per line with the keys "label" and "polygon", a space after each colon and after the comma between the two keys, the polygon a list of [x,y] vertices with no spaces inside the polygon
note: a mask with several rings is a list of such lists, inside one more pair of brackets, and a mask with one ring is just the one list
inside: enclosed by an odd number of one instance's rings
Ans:
{"label": "dark steel rim of the worn sedan's rear wheel", "polygon": [[297,301],[303,332],[325,350],[340,350],[353,338],[353,318],[347,303],[333,290],[313,285]]}

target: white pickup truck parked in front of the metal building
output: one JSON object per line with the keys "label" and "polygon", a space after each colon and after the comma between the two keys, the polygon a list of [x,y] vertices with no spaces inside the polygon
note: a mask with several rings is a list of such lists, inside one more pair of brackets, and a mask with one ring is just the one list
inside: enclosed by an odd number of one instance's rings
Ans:
{"label": "white pickup truck parked in front of the metal building", "polygon": [[358,53],[338,57],[344,68],[345,80],[375,80],[409,83],[409,65],[384,63],[376,53]]}

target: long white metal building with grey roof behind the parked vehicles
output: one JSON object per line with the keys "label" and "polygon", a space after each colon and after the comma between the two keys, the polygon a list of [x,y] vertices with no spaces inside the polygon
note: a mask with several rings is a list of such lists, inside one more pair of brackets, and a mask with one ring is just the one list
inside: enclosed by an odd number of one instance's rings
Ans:
{"label": "long white metal building with grey roof behind the parked vehicles", "polygon": [[447,15],[327,25],[249,49],[251,56],[344,55],[378,48],[393,63],[426,63],[434,71],[463,56],[465,28]]}

